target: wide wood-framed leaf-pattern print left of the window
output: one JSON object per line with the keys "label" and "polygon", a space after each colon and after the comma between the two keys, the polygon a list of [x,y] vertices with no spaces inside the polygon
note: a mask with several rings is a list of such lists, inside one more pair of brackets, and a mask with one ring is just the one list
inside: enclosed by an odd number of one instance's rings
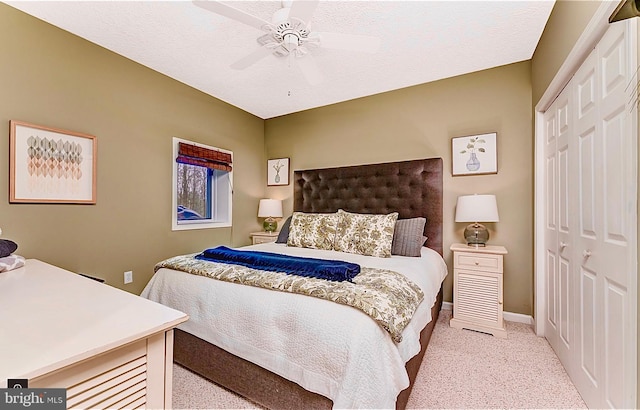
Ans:
{"label": "wide wood-framed leaf-pattern print left of the window", "polygon": [[10,203],[96,203],[93,135],[9,121]]}

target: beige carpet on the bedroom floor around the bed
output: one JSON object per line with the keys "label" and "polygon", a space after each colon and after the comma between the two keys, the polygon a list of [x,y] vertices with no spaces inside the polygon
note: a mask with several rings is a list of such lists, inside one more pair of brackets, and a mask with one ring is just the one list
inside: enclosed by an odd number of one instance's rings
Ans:
{"label": "beige carpet on the bedroom floor around the bed", "polygon": [[[412,409],[586,409],[558,358],[531,326],[507,322],[507,339],[449,327],[443,310],[409,398]],[[175,409],[260,406],[175,365]]]}

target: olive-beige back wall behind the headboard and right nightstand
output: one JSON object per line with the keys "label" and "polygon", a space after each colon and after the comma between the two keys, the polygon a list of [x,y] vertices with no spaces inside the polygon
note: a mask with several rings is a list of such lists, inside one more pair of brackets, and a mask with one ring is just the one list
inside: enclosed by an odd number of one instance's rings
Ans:
{"label": "olive-beige back wall behind the headboard and right nightstand", "polygon": [[[505,259],[505,309],[533,314],[533,163],[531,65],[512,64],[323,108],[269,119],[269,158],[290,157],[292,169],[322,168],[442,157],[444,246],[462,238],[454,223],[458,195],[494,193],[500,222],[489,224],[490,243],[509,250]],[[451,138],[498,133],[498,174],[451,176]],[[286,199],[292,186],[267,193]],[[452,275],[445,282],[451,301]]]}

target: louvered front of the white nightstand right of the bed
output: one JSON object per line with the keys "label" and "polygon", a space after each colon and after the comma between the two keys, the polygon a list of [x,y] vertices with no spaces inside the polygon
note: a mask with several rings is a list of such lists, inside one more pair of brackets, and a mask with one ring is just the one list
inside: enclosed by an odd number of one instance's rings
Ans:
{"label": "louvered front of the white nightstand right of the bed", "polygon": [[502,282],[497,275],[458,270],[454,304],[456,319],[490,326],[502,324],[502,310],[499,308]]}

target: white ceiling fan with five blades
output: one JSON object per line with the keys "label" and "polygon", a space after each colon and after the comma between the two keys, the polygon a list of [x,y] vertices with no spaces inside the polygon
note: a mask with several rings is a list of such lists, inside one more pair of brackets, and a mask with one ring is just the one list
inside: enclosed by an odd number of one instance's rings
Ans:
{"label": "white ceiling fan with five blades", "polygon": [[313,49],[322,47],[375,53],[380,47],[377,37],[312,31],[311,17],[318,7],[318,1],[283,0],[282,8],[273,14],[271,22],[215,0],[194,0],[193,3],[266,33],[257,38],[260,48],[231,64],[232,68],[245,69],[269,55],[294,57],[307,82],[317,85],[322,82],[323,76],[313,58]]}

